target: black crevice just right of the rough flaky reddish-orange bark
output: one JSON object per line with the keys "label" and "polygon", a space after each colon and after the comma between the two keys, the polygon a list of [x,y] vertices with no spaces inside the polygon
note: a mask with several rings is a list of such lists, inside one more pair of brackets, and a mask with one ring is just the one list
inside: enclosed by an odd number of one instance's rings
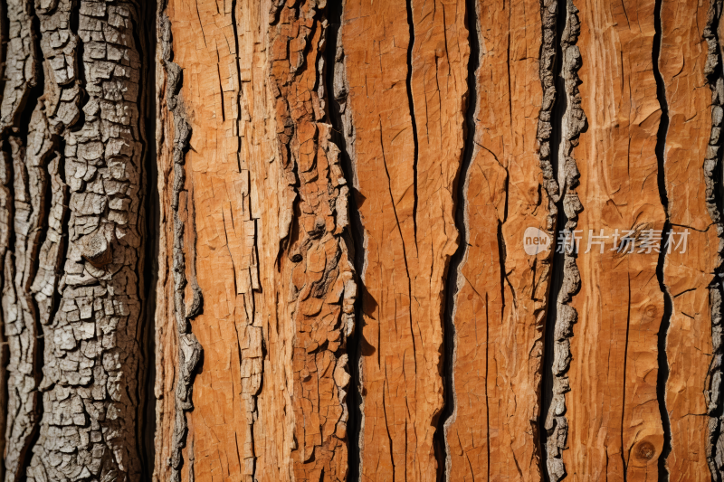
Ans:
{"label": "black crevice just right of the rough flaky reddish-orange bark", "polygon": [[325,79],[327,80],[326,94],[328,97],[327,105],[329,106],[329,123],[332,126],[331,139],[339,147],[339,165],[342,167],[345,179],[348,181],[350,190],[350,199],[348,203],[349,209],[349,226],[347,232],[344,233],[345,241],[347,241],[350,250],[350,258],[355,266],[357,273],[357,288],[359,296],[355,299],[355,328],[348,336],[347,353],[349,357],[349,375],[347,406],[349,418],[347,422],[347,438],[348,438],[348,481],[357,482],[360,476],[360,436],[362,430],[362,396],[360,393],[360,373],[359,363],[362,355],[360,343],[362,340],[362,326],[364,323],[362,303],[364,300],[365,286],[362,282],[361,275],[365,269],[365,229],[362,225],[362,217],[357,208],[357,190],[355,189],[354,180],[355,166],[345,138],[345,129],[351,129],[351,126],[345,125],[343,114],[349,109],[347,91],[343,85],[335,85],[335,78],[343,80],[344,71],[344,53],[338,49],[341,41],[342,15],[344,14],[344,0],[331,0],[329,2],[327,18],[329,21],[327,48],[325,49],[325,63],[327,70],[325,71]]}

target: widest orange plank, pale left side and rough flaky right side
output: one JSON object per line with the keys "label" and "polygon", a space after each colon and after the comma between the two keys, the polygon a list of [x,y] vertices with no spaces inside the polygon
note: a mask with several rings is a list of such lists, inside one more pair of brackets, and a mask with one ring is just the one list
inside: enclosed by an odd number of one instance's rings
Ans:
{"label": "widest orange plank, pale left side and rough flaky right side", "polygon": [[[176,67],[158,75],[167,86],[183,76],[178,98],[190,137],[182,179],[171,174],[177,132],[160,113],[159,184],[167,185],[163,176],[184,186],[184,242],[204,294],[203,311],[189,321],[204,356],[186,412],[182,480],[346,479],[356,284],[342,237],[348,187],[329,140],[325,9],[313,1],[175,0],[165,8]],[[171,90],[157,95],[168,99]],[[180,108],[168,108],[176,123]],[[174,236],[165,234],[160,253],[166,278],[157,312],[167,320],[178,311],[167,274]],[[192,295],[186,287],[186,305]],[[157,340],[159,358],[173,360],[167,324]],[[157,398],[172,395],[171,376],[162,375]],[[166,443],[172,410],[157,404],[157,439]],[[157,477],[168,474],[157,468]]]}

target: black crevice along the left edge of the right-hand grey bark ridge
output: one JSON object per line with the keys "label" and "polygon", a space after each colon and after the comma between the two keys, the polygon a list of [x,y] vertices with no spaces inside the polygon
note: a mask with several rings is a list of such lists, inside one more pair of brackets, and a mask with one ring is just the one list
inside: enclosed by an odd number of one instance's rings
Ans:
{"label": "black crevice along the left edge of the right-hand grey bark ridge", "polygon": [[[555,0],[557,3],[557,16],[556,16],[556,35],[553,44],[556,48],[556,58],[553,63],[553,80],[556,88],[556,98],[554,99],[553,109],[551,111],[550,125],[550,165],[553,169],[553,178],[558,179],[560,166],[560,146],[563,142],[563,117],[567,109],[567,96],[565,80],[561,75],[563,70],[563,52],[561,47],[561,40],[563,37],[563,30],[566,28],[566,0]],[[546,8],[541,2],[541,10]],[[542,49],[542,48],[541,48]],[[557,252],[557,239],[560,232],[563,232],[566,224],[566,214],[563,210],[563,186],[558,186],[559,192],[556,194],[557,202],[556,213],[555,213],[555,226],[554,226],[554,238],[551,242],[552,249],[554,250],[551,261],[550,261],[550,281],[548,284],[548,309],[546,311],[546,327],[544,334],[544,347],[543,347],[543,370],[541,374],[541,403],[540,403],[540,416],[538,418],[538,430],[540,435],[540,449],[541,449],[541,473],[544,479],[548,482],[550,477],[548,475],[548,430],[546,430],[546,418],[548,417],[548,411],[550,411],[551,402],[553,402],[553,360],[555,351],[555,331],[557,323],[557,301],[560,290],[563,286],[563,268],[565,261],[565,253],[563,250]]]}

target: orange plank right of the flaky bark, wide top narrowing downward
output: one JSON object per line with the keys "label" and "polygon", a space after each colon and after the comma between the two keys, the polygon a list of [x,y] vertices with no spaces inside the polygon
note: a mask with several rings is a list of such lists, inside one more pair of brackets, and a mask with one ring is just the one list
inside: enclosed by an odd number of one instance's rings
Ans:
{"label": "orange plank right of the flaky bark, wide top narrowing downward", "polygon": [[[468,33],[462,1],[344,4],[344,119],[364,225],[363,480],[434,480],[443,288],[457,248]],[[407,20],[407,24],[402,21]],[[364,39],[364,40],[363,40]],[[348,141],[349,144],[349,141]]]}

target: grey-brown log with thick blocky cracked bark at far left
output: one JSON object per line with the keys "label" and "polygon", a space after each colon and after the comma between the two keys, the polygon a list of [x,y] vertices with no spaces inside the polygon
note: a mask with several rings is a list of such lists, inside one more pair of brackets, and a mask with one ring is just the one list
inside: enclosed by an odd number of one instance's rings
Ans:
{"label": "grey-brown log with thick blocky cracked bark at far left", "polygon": [[138,478],[141,13],[120,1],[6,6],[5,480]]}

